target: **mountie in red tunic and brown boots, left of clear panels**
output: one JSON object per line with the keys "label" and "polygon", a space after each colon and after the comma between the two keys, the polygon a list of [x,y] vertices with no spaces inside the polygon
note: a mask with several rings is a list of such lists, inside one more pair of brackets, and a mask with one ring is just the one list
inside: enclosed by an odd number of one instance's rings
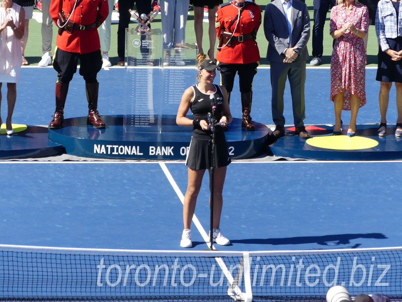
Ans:
{"label": "mountie in red tunic and brown boots, left of clear panels", "polygon": [[[49,128],[59,129],[63,125],[68,86],[77,70],[78,59],[79,74],[85,80],[88,122],[95,128],[105,128],[105,123],[99,118],[97,111],[99,83],[96,75],[102,68],[97,28],[109,15],[108,0],[52,0],[49,12],[56,25],[62,29],[57,35],[57,49],[53,60],[58,80],[56,110]],[[60,14],[69,21],[65,27],[60,24]]]}

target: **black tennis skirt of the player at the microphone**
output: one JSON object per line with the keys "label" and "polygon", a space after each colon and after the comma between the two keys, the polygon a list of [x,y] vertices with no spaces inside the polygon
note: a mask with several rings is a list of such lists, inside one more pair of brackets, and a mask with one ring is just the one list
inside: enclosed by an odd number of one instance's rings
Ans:
{"label": "black tennis skirt of the player at the microphone", "polygon": [[[231,163],[225,133],[216,132],[215,168],[226,167]],[[192,137],[185,164],[195,170],[210,169],[212,165],[212,140]]]}

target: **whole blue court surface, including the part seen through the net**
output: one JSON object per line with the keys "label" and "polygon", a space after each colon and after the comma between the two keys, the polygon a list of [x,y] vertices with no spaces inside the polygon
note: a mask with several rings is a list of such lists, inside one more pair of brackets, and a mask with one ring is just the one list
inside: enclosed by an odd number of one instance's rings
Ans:
{"label": "whole blue court surface, including the part seen through the net", "polygon": [[[329,71],[307,69],[306,125],[334,122]],[[99,72],[102,115],[124,114],[124,72]],[[42,94],[35,77],[45,80]],[[24,68],[27,84],[17,86],[13,123],[49,123],[55,77],[52,68]],[[379,121],[374,77],[375,69],[367,69],[368,102],[359,124]],[[251,115],[272,127],[269,81],[269,68],[259,68]],[[84,83],[78,76],[72,83],[66,118],[86,114]],[[390,123],[394,99],[393,88]],[[231,110],[241,117],[238,87]],[[284,111],[291,121],[288,88]],[[333,285],[400,300],[399,161],[235,161],[221,219],[231,245],[204,251],[210,246],[207,175],[191,225],[193,247],[182,249],[183,161],[54,160],[0,163],[0,291],[6,300],[322,301]]]}

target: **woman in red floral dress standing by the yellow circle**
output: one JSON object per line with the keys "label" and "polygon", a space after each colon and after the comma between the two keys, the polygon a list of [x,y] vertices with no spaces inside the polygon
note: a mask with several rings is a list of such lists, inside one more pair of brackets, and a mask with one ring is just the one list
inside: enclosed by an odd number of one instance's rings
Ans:
{"label": "woman in red floral dress standing by the yellow circle", "polygon": [[368,10],[354,0],[337,0],[331,10],[330,34],[335,39],[331,56],[331,97],[335,109],[334,135],[342,132],[341,114],[351,110],[348,136],[356,133],[359,108],[366,104],[366,52]]}

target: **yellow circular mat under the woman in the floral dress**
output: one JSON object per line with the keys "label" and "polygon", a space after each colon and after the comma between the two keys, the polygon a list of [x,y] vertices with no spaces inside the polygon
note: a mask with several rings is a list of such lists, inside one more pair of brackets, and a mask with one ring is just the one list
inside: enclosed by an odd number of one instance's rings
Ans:
{"label": "yellow circular mat under the woman in the floral dress", "polygon": [[368,137],[347,135],[316,136],[306,142],[314,147],[335,150],[368,149],[378,145],[378,141]]}

